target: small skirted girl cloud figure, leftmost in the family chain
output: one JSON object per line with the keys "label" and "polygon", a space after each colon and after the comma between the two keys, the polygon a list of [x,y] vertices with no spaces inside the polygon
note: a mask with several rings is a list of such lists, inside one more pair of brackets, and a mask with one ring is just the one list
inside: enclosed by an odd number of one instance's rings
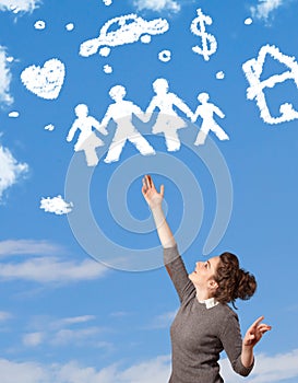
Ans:
{"label": "small skirted girl cloud figure, leftmost in the family chain", "polygon": [[73,140],[76,130],[81,130],[76,143],[74,144],[74,151],[80,150],[85,152],[86,162],[88,166],[96,166],[98,163],[98,156],[96,154],[96,148],[103,147],[102,141],[93,131],[93,128],[98,130],[102,135],[107,135],[108,131],[100,126],[100,124],[92,116],[88,116],[88,107],[85,104],[79,104],[74,108],[76,119],[72,124],[67,141]]}

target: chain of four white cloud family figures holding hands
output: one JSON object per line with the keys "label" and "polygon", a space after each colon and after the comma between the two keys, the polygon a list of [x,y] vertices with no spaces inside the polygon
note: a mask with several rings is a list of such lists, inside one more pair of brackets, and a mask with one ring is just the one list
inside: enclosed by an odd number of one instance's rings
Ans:
{"label": "chain of four white cloud family figures holding hands", "polygon": [[[187,128],[186,120],[177,114],[176,109],[182,112],[192,123],[199,117],[202,118],[202,126],[194,141],[195,146],[204,144],[208,131],[213,131],[219,140],[228,140],[228,135],[215,121],[214,115],[224,118],[224,113],[214,104],[208,102],[207,93],[200,93],[198,96],[201,103],[194,113],[189,106],[175,93],[169,92],[169,84],[166,79],[157,79],[153,82],[155,95],[151,100],[147,108],[143,112],[131,101],[124,100],[127,91],[122,85],[115,85],[109,90],[111,103],[103,117],[102,123],[96,118],[88,116],[88,107],[85,104],[79,104],[74,108],[76,119],[72,124],[67,141],[72,141],[76,130],[81,130],[78,141],[74,144],[74,151],[84,151],[88,166],[96,166],[98,156],[96,148],[104,146],[94,129],[102,135],[107,136],[107,126],[110,120],[116,123],[116,131],[104,162],[117,162],[127,141],[130,141],[142,155],[154,155],[155,150],[150,142],[133,125],[133,115],[138,116],[143,123],[151,120],[155,109],[159,109],[157,118],[152,127],[152,134],[164,134],[167,151],[178,151],[181,147],[178,130]],[[93,129],[94,128],[94,129]]]}

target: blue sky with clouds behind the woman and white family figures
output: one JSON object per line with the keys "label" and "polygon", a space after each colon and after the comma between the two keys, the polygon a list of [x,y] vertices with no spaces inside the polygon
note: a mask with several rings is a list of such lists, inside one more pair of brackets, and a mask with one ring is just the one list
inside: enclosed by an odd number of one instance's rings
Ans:
{"label": "blue sky with clouds behind the woman and white family figures", "polygon": [[[198,9],[212,18],[205,33],[217,43],[208,60],[192,50],[203,40],[190,28]],[[167,381],[178,299],[141,195],[147,172],[165,184],[189,270],[231,251],[257,276],[257,294],[238,303],[241,328],[264,315],[273,329],[247,382],[297,382],[297,11],[295,0],[0,0],[1,382]],[[106,22],[128,14],[162,18],[168,31],[116,38],[106,56],[79,54]],[[53,80],[43,83],[52,59]],[[210,132],[195,147],[202,118],[191,124],[176,109],[187,123],[180,150],[167,151],[152,120],[135,121],[156,155],[127,142],[119,161],[105,163],[110,123],[97,135],[98,164],[87,166],[74,152],[78,132],[67,141],[75,106],[102,121],[120,84],[145,111],[158,78],[192,112],[208,93],[229,140]],[[228,382],[242,381],[224,355],[220,363]]]}

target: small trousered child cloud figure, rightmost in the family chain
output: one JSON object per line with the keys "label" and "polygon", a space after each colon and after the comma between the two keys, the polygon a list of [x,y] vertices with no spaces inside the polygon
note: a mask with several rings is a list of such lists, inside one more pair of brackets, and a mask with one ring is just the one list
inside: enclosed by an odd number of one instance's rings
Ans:
{"label": "small trousered child cloud figure, rightmost in the family chain", "polygon": [[220,126],[215,121],[213,117],[214,114],[216,114],[220,118],[224,118],[224,113],[216,105],[208,103],[208,98],[210,96],[207,93],[200,93],[198,95],[198,101],[200,101],[201,105],[196,107],[196,111],[191,118],[192,123],[195,123],[199,116],[203,119],[201,129],[194,141],[195,146],[203,144],[205,142],[210,130],[212,130],[219,140],[229,139],[225,130],[220,128]]}

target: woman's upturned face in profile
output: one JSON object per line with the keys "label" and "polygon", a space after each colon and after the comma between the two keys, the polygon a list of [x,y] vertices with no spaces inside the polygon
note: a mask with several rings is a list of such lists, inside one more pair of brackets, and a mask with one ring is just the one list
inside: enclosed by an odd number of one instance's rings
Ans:
{"label": "woman's upturned face in profile", "polygon": [[198,288],[207,288],[210,282],[214,281],[214,275],[219,262],[219,256],[212,257],[205,262],[196,262],[194,270],[189,275],[189,279]]}

